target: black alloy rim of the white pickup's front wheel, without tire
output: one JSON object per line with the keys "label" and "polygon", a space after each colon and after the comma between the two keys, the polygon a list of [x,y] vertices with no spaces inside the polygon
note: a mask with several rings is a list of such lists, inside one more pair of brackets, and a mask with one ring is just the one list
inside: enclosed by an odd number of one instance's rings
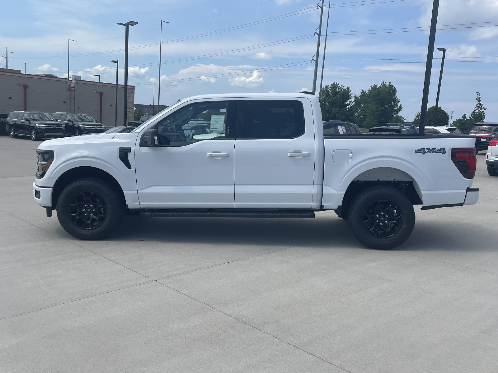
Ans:
{"label": "black alloy rim of the white pickup's front wheel, without tire", "polygon": [[80,229],[99,228],[107,219],[107,205],[104,198],[91,191],[77,193],[69,203],[71,222]]}

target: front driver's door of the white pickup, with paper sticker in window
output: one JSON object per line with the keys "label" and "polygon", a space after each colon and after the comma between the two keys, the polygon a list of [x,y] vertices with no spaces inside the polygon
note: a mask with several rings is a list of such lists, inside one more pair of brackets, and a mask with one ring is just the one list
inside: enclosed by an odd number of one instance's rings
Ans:
{"label": "front driver's door of the white pickup, with paper sticker in window", "polygon": [[[226,99],[191,101],[147,126],[157,128],[160,146],[140,147],[138,136],[135,167],[141,208],[235,207],[235,133],[230,138],[235,104]],[[210,126],[210,133],[193,134],[192,126],[200,121]]]}

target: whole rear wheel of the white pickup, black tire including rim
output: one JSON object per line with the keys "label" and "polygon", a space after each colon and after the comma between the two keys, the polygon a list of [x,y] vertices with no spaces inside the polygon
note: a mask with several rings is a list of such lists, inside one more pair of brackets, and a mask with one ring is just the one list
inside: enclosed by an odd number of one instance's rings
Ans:
{"label": "whole rear wheel of the white pickup, black tire including rim", "polygon": [[348,222],[351,232],[362,244],[388,250],[410,236],[415,226],[415,211],[408,197],[399,190],[374,186],[362,190],[353,199]]}

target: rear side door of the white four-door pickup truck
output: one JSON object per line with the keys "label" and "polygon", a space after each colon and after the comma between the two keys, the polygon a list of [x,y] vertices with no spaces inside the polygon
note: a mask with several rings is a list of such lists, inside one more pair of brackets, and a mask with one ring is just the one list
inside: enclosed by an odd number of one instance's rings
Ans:
{"label": "rear side door of the white four-door pickup truck", "polygon": [[[238,100],[234,164],[236,208],[312,206],[315,138],[311,102],[296,99],[289,106],[288,101],[284,98]],[[296,101],[301,109],[295,105]],[[302,133],[297,124],[299,121],[302,124],[303,115],[304,134],[280,138]],[[244,139],[258,135],[267,138]]]}

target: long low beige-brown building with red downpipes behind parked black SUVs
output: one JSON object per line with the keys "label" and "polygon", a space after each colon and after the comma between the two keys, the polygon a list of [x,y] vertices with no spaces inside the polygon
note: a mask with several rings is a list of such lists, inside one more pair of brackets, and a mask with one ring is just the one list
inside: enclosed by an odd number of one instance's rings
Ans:
{"label": "long low beige-brown building with red downpipes behind parked black SUVs", "polygon": [[[118,85],[118,125],[123,125],[124,86]],[[135,87],[128,86],[127,121],[133,120]],[[67,80],[0,69],[0,115],[12,110],[77,112],[105,126],[115,123],[116,84]],[[3,116],[2,115],[2,116]]]}

